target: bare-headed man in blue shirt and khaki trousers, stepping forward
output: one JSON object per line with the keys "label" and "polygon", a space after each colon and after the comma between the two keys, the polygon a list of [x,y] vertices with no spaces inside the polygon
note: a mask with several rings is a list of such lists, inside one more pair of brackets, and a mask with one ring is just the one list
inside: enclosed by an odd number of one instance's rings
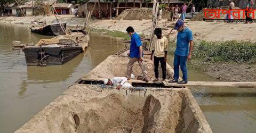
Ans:
{"label": "bare-headed man in blue shirt and khaki trousers, stepping forward", "polygon": [[134,32],[134,29],[132,27],[128,27],[126,31],[127,31],[127,34],[129,34],[129,36],[131,37],[131,46],[130,46],[130,53],[129,53],[130,60],[127,65],[126,77],[128,80],[130,80],[131,74],[132,74],[132,67],[134,63],[138,61],[143,73],[142,80],[148,82],[149,78],[146,70],[146,65],[143,63],[143,59],[142,59],[143,53],[142,53],[142,43],[141,43],[140,36],[136,32]]}

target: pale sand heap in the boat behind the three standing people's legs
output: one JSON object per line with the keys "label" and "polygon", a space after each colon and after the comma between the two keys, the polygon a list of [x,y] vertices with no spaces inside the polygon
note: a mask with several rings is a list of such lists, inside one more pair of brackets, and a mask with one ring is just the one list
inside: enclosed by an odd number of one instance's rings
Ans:
{"label": "pale sand heap in the boat behind the three standing people's legs", "polygon": [[[147,56],[144,57],[144,63],[147,65],[147,72],[148,76],[151,80],[155,78],[154,73],[154,63],[153,61],[149,60]],[[129,62],[129,57],[127,56],[117,56],[117,55],[110,55],[106,60],[101,62],[98,66],[96,66],[92,71],[86,74],[83,77],[83,80],[97,80],[102,78],[114,78],[114,77],[126,77],[126,68]],[[161,65],[159,64],[159,78],[162,78],[162,69]],[[167,76],[166,78],[172,78],[173,72],[170,65],[167,64],[166,71]],[[132,73],[135,75],[135,78],[138,76],[142,76],[142,71],[140,66],[137,62],[134,63]]]}

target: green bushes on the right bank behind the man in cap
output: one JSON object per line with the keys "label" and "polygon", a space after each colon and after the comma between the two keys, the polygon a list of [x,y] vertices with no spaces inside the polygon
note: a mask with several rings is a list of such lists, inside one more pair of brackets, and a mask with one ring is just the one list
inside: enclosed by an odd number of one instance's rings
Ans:
{"label": "green bushes on the right bank behind the man in cap", "polygon": [[[172,43],[175,44],[175,43]],[[174,52],[171,46],[170,51]],[[194,59],[204,61],[256,62],[256,43],[249,41],[195,41]]]}

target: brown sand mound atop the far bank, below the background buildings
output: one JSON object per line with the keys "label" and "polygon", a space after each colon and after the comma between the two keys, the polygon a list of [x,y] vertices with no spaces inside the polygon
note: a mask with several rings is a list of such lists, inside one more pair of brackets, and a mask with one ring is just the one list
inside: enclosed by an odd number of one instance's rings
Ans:
{"label": "brown sand mound atop the far bank, below the background buildings", "polygon": [[[170,19],[170,12],[163,11],[162,19]],[[126,9],[116,17],[116,20],[139,20],[139,19],[152,19],[152,9]]]}

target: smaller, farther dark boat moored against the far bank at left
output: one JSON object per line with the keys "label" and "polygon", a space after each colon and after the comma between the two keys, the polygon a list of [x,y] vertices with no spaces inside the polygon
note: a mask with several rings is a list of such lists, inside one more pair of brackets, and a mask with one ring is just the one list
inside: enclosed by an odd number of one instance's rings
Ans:
{"label": "smaller, farther dark boat moored against the far bank at left", "polygon": [[46,22],[32,22],[29,26],[31,32],[36,34],[48,35],[48,36],[58,36],[65,35],[66,23],[62,23],[63,30],[60,24],[46,24]]}

